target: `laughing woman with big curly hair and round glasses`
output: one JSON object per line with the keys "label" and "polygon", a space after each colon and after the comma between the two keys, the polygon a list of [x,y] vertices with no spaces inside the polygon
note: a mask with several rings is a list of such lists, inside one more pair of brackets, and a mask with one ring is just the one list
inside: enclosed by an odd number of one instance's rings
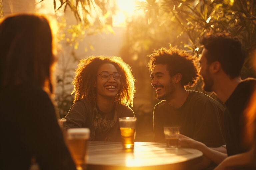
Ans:
{"label": "laughing woman with big curly hair and round glasses", "polygon": [[90,140],[120,141],[118,118],[134,117],[134,77],[120,57],[91,56],[80,60],[72,83],[74,105],[66,128],[90,128]]}

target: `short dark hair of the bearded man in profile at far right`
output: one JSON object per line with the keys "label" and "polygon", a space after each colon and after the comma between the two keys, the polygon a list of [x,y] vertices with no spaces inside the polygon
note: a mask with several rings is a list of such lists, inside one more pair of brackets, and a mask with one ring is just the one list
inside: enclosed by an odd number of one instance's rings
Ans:
{"label": "short dark hair of the bearded man in profile at far right", "polygon": [[246,53],[237,38],[229,34],[207,35],[201,44],[207,49],[205,57],[208,64],[219,61],[223,71],[231,78],[240,75]]}

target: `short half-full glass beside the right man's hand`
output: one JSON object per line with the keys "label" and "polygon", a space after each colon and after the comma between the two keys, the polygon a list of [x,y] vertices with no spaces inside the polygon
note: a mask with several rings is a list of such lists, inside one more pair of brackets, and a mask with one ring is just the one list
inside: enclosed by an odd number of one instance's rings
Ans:
{"label": "short half-full glass beside the right man's hand", "polygon": [[164,135],[167,147],[177,148],[180,134],[180,126],[165,126]]}

